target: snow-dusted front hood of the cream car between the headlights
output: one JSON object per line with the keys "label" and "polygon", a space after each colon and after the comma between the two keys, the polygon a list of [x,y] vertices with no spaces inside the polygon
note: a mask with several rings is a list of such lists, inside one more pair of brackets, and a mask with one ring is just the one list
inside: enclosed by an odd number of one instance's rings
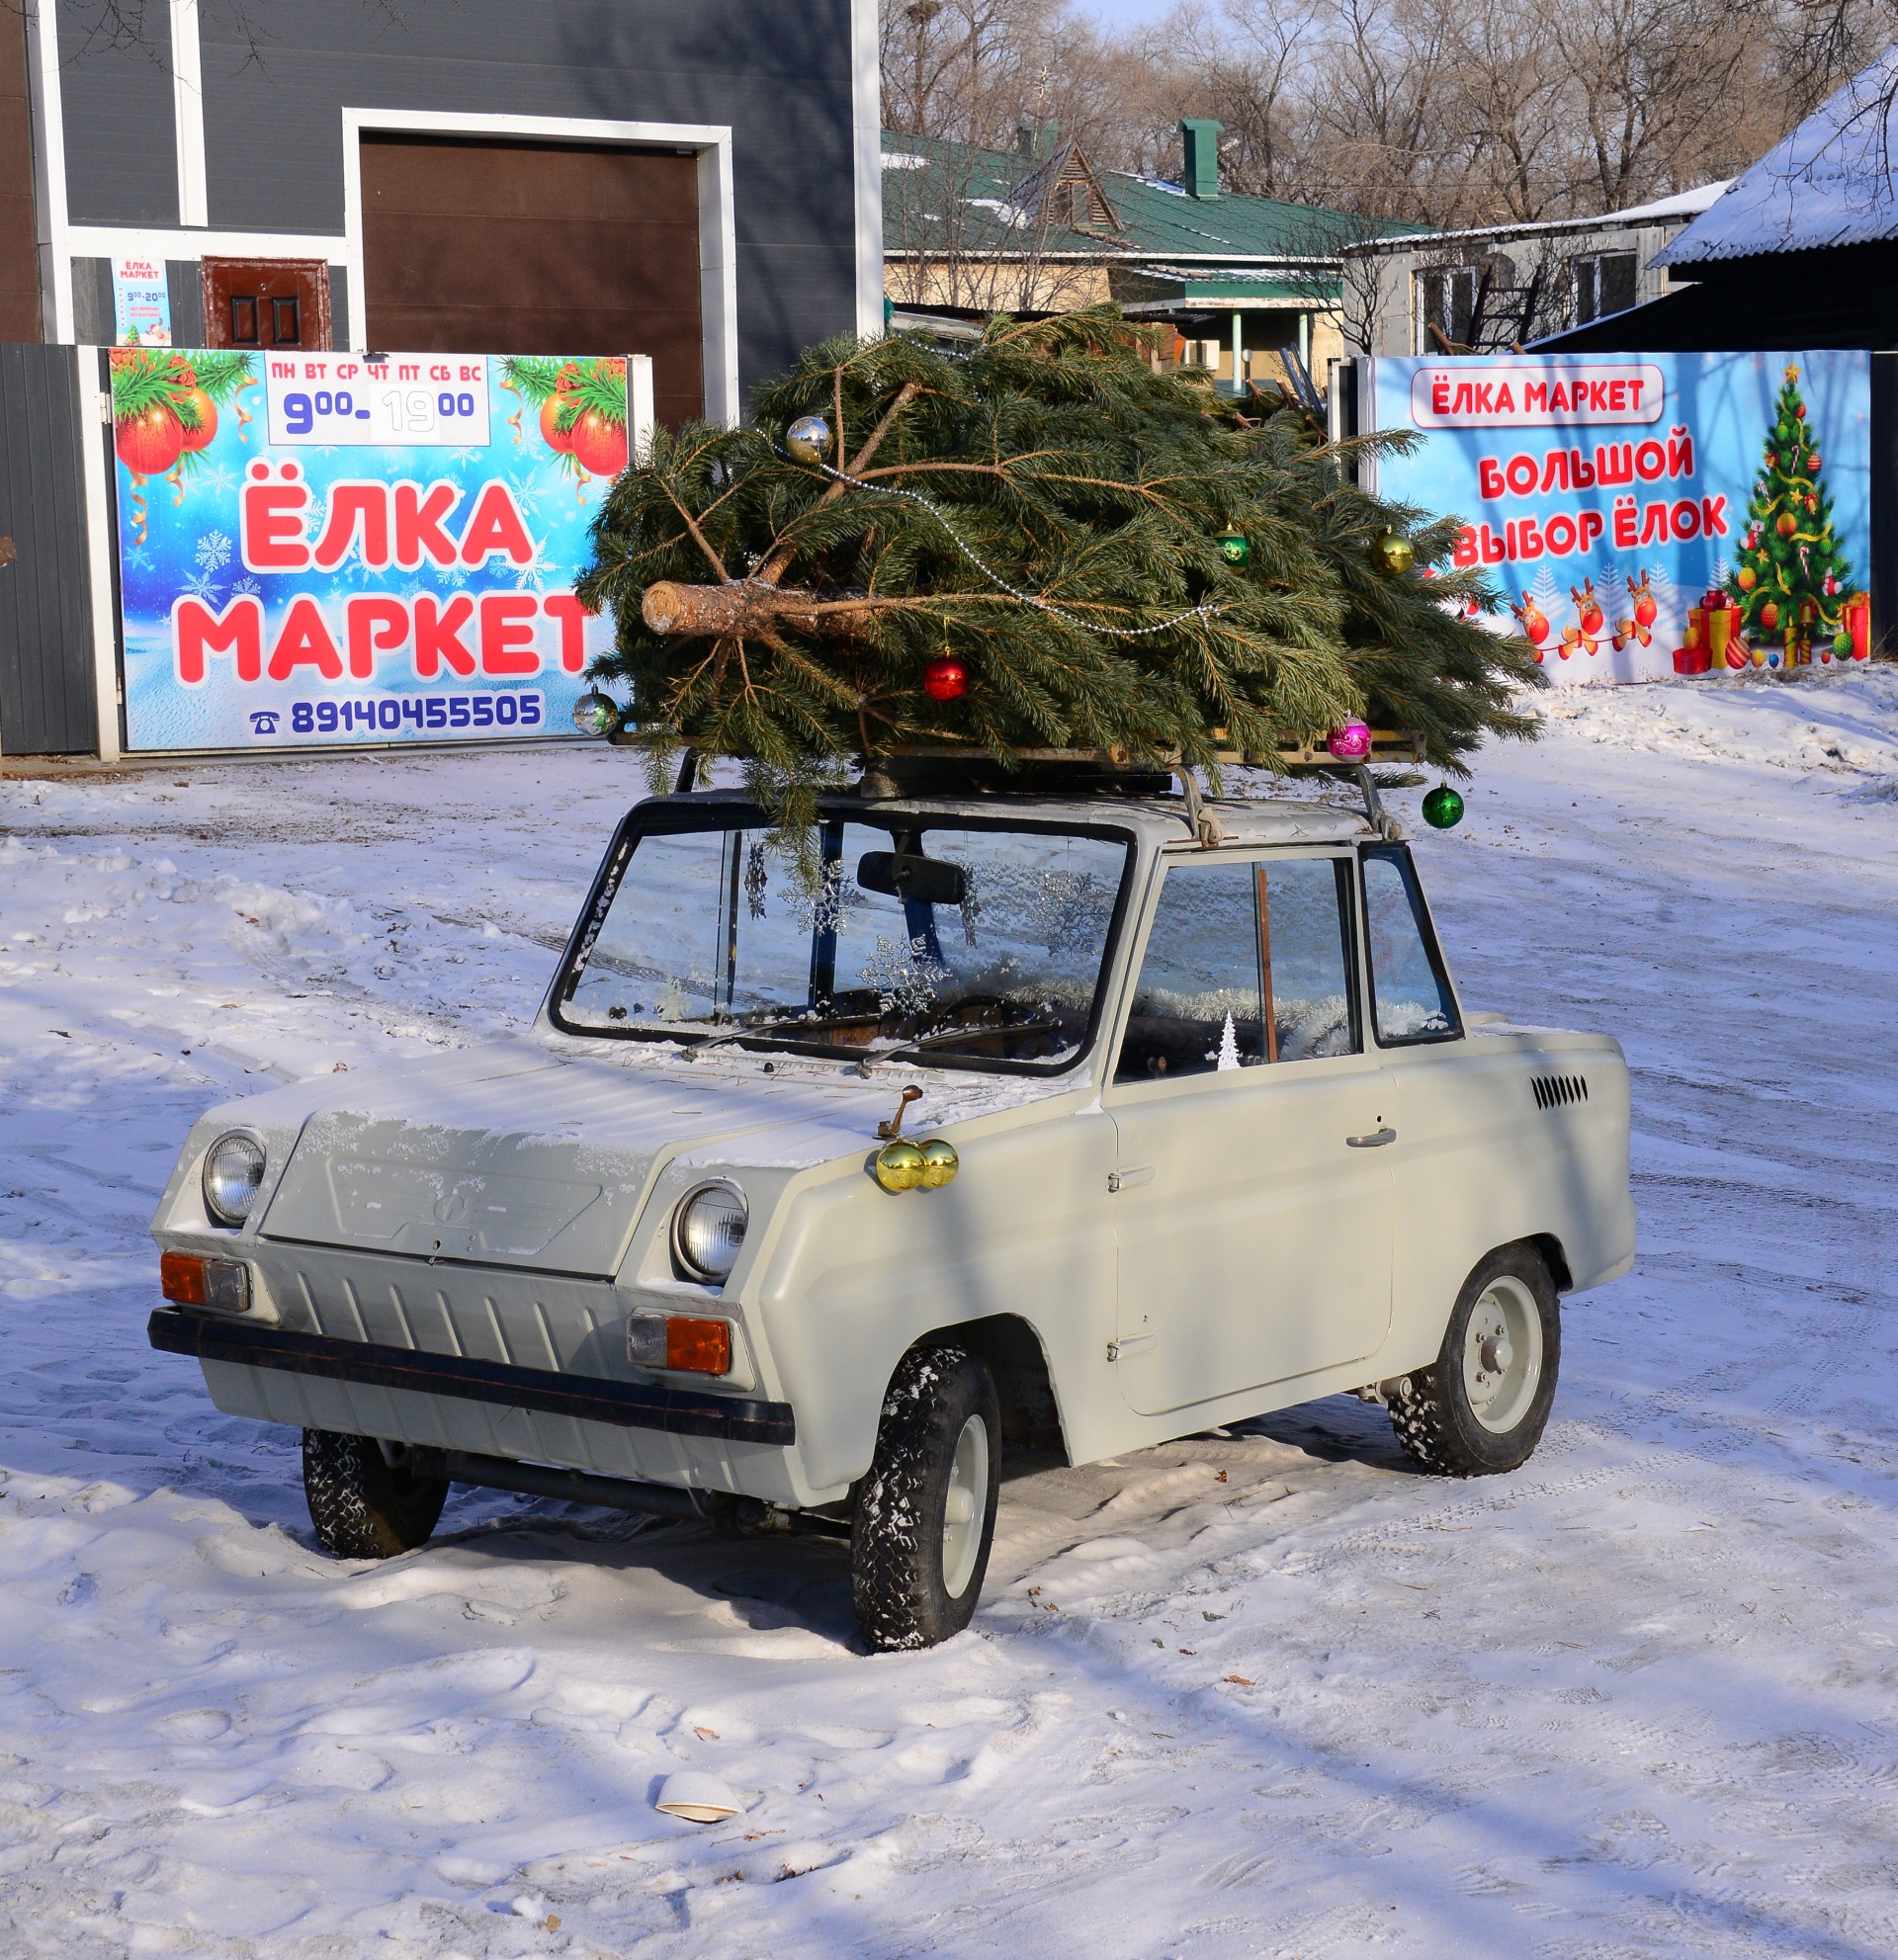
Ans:
{"label": "snow-dusted front hood of the cream car between the headlights", "polygon": [[[304,1121],[259,1233],[610,1278],[663,1162],[804,1168],[867,1152],[898,1086],[537,1051],[400,1066]],[[945,1121],[971,1098],[929,1102],[924,1117]]]}

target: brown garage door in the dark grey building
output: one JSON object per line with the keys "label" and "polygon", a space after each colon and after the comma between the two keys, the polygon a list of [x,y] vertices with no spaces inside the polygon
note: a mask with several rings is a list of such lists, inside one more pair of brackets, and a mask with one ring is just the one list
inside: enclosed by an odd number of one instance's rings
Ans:
{"label": "brown garage door in the dark grey building", "polygon": [[704,412],[698,159],[363,133],[371,347],[651,355],[653,412]]}

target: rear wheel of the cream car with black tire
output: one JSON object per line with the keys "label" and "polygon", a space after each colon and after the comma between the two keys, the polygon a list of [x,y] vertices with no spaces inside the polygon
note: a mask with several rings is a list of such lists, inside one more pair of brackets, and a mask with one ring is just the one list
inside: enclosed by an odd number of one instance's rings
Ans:
{"label": "rear wheel of the cream car with black tire", "polygon": [[[1473,1343],[1471,1321],[1478,1309],[1478,1339]],[[1533,1382],[1523,1378],[1510,1386],[1512,1341],[1510,1362],[1494,1376],[1500,1384],[1496,1399],[1488,1411],[1478,1411],[1471,1374],[1480,1370],[1482,1354],[1494,1352],[1484,1348],[1482,1331],[1502,1317],[1525,1323],[1529,1315],[1529,1331],[1539,1337]],[[1435,1362],[1406,1374],[1392,1390],[1390,1425],[1404,1454],[1433,1476],[1494,1476],[1525,1464],[1549,1421],[1561,1358],[1563,1319],[1549,1266],[1531,1245],[1500,1247],[1465,1280]],[[1474,1380],[1488,1378],[1476,1372]],[[1492,1427],[1498,1421],[1502,1427]]]}

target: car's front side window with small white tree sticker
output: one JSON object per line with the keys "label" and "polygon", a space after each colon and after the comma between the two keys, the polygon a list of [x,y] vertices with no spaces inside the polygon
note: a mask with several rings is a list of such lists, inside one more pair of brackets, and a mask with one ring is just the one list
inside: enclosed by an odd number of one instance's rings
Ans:
{"label": "car's front side window with small white tree sticker", "polygon": [[1343,858],[1169,864],[1116,1082],[1359,1047]]}

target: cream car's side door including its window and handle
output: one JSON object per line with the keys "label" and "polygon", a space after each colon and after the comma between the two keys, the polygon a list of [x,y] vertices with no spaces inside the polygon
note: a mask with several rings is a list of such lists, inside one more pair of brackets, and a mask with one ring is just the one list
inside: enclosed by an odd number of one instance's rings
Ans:
{"label": "cream car's side door including its window and handle", "polygon": [[1351,857],[1165,866],[1112,1082],[1116,1372],[1141,1415],[1371,1354],[1396,1086],[1367,1053]]}

